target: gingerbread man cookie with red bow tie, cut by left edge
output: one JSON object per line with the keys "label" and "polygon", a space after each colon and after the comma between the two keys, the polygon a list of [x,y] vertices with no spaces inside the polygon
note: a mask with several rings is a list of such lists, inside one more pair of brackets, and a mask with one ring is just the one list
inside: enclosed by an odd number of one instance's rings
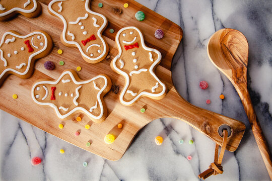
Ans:
{"label": "gingerbread man cookie with red bow tie, cut by left edge", "polygon": [[29,78],[34,61],[49,54],[51,37],[40,30],[22,36],[15,31],[6,32],[0,44],[0,86],[9,74]]}

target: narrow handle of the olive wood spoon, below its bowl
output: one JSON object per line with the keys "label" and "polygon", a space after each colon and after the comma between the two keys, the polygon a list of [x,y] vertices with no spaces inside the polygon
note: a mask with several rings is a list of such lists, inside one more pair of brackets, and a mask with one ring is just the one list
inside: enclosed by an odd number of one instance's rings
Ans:
{"label": "narrow handle of the olive wood spoon, below its bowl", "polygon": [[265,137],[262,133],[260,123],[257,119],[256,113],[253,109],[253,105],[248,93],[247,85],[246,84],[239,84],[239,87],[235,86],[238,95],[241,98],[242,104],[244,106],[248,121],[250,123],[252,133],[255,137],[257,142],[258,148],[260,150],[262,159],[268,171],[269,177],[272,180],[272,162],[271,162],[271,155],[269,152],[269,148],[267,146]]}

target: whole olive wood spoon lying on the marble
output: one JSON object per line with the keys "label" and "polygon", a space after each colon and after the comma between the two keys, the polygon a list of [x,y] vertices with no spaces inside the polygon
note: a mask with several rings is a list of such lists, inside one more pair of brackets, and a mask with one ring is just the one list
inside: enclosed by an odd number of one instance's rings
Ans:
{"label": "whole olive wood spoon lying on the marble", "polygon": [[238,92],[262,159],[272,180],[271,155],[247,89],[248,42],[246,37],[234,29],[221,29],[211,37],[207,50],[212,63],[228,77]]}

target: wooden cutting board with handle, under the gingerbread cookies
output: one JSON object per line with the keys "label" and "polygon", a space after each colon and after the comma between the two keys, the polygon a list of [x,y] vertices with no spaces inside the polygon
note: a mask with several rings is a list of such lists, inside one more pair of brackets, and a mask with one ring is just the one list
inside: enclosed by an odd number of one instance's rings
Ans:
{"label": "wooden cutting board with handle, under the gingerbread cookies", "polygon": [[[63,24],[60,19],[48,13],[49,2],[47,0],[40,1],[42,13],[37,18],[29,19],[19,15],[12,20],[0,22],[1,36],[8,30],[15,30],[22,35],[34,30],[43,30],[50,34],[54,43],[52,52],[36,61],[34,74],[31,78],[20,79],[11,75],[6,79],[0,88],[0,108],[2,110],[109,160],[120,159],[135,134],[146,124],[162,117],[185,121],[220,145],[222,137],[219,135],[218,129],[221,125],[229,125],[232,132],[228,138],[227,149],[236,150],[244,134],[245,125],[234,119],[189,104],[179,96],[173,86],[171,62],[183,35],[182,29],[178,25],[132,0],[94,0],[91,2],[91,10],[105,15],[109,21],[103,35],[109,44],[110,57],[97,64],[88,64],[82,59],[77,48],[65,47],[60,42]],[[98,3],[103,3],[103,8],[99,8]],[[128,3],[129,7],[124,8],[124,3]],[[143,11],[146,15],[143,22],[134,18],[138,11]],[[119,102],[119,94],[125,80],[124,77],[111,70],[110,62],[118,53],[114,42],[115,34],[126,26],[140,28],[147,46],[158,49],[162,53],[162,61],[155,71],[160,80],[168,87],[168,93],[162,100],[142,98],[131,107],[123,106]],[[111,28],[114,29],[114,33],[109,33]],[[162,40],[157,40],[154,37],[154,32],[159,28],[165,32]],[[57,54],[58,49],[62,49],[63,54]],[[52,71],[46,70],[43,66],[44,62],[48,60],[55,62],[56,68]],[[60,60],[65,62],[63,66],[58,64]],[[104,97],[108,108],[108,117],[103,123],[93,123],[83,114],[81,115],[83,119],[80,122],[75,120],[76,117],[62,121],[58,119],[52,108],[40,107],[31,99],[31,86],[34,81],[40,78],[57,79],[63,70],[68,68],[76,70],[77,66],[82,67],[82,70],[78,72],[81,79],[90,79],[97,74],[105,73],[112,80],[112,91]],[[17,94],[18,99],[12,99],[13,94]],[[145,108],[146,112],[141,113],[141,108]],[[63,129],[58,128],[60,123],[64,125]],[[122,129],[117,128],[118,123],[123,124]],[[91,125],[90,129],[85,129],[86,124]],[[80,136],[74,135],[76,131],[81,132]],[[113,134],[116,138],[111,145],[104,143],[104,137],[107,134]],[[85,146],[87,142],[92,143],[90,147]]]}

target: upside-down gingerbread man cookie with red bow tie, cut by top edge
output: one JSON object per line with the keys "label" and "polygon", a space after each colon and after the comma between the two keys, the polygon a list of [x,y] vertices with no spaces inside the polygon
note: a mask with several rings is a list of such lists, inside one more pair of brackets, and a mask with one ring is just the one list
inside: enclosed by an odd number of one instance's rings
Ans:
{"label": "upside-down gingerbread man cookie with red bow tie, cut by top edge", "polygon": [[48,5],[50,14],[64,24],[61,42],[65,46],[78,47],[88,63],[102,61],[108,54],[108,44],[102,37],[107,19],[89,9],[89,0],[53,0]]}

